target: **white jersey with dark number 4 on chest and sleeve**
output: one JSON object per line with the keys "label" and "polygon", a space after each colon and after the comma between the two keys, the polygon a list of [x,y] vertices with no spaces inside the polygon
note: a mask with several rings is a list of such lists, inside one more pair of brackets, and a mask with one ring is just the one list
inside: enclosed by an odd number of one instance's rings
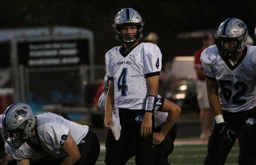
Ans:
{"label": "white jersey with dark number 4 on chest and sleeve", "polygon": [[160,49],[155,44],[141,43],[126,54],[123,47],[118,46],[110,49],[105,58],[109,80],[114,81],[114,106],[145,109],[146,77],[160,75]]}

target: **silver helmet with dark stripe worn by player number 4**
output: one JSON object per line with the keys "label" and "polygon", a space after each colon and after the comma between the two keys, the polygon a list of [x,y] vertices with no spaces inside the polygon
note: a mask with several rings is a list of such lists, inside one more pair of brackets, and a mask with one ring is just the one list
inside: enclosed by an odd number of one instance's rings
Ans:
{"label": "silver helmet with dark stripe worn by player number 4", "polygon": [[[121,26],[137,26],[137,33],[134,34],[121,34],[120,27]],[[114,19],[114,23],[112,25],[115,30],[115,37],[117,40],[127,44],[132,45],[134,42],[140,40],[143,37],[142,29],[144,26],[144,22],[142,21],[141,15],[139,12],[132,8],[124,8],[117,13]],[[134,39],[127,40],[127,35],[134,35]]]}

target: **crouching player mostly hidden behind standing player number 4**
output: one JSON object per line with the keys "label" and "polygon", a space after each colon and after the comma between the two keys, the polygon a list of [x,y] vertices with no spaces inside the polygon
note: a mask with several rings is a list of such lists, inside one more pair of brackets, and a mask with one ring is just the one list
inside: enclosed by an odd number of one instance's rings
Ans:
{"label": "crouching player mostly hidden behind standing player number 4", "polygon": [[[103,92],[99,99],[99,107],[105,111],[106,94],[108,92],[108,75],[106,74],[103,82]],[[154,164],[169,164],[168,156],[174,149],[174,140],[177,134],[176,120],[181,113],[181,108],[169,101],[164,99],[160,95],[157,96],[156,106],[154,110],[155,117],[155,131],[153,133],[153,144],[154,144]],[[137,122],[143,118],[137,118]],[[133,157],[135,153],[127,153],[127,156]]]}

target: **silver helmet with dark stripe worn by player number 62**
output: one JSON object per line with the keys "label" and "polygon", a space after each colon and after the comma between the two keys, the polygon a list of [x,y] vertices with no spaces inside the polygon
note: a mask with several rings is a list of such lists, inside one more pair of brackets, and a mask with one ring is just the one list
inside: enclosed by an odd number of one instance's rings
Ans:
{"label": "silver helmet with dark stripe worn by player number 62", "polygon": [[[220,56],[229,59],[245,49],[248,40],[247,27],[240,19],[228,18],[219,25],[215,40]],[[232,41],[233,48],[226,48],[225,43]]]}

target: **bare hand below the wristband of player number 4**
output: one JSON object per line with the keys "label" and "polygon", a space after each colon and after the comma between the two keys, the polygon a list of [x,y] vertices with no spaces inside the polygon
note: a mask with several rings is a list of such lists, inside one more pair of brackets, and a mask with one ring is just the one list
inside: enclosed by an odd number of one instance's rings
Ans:
{"label": "bare hand below the wristband of player number 4", "polygon": [[146,112],[141,123],[141,137],[146,138],[152,133],[152,113]]}

